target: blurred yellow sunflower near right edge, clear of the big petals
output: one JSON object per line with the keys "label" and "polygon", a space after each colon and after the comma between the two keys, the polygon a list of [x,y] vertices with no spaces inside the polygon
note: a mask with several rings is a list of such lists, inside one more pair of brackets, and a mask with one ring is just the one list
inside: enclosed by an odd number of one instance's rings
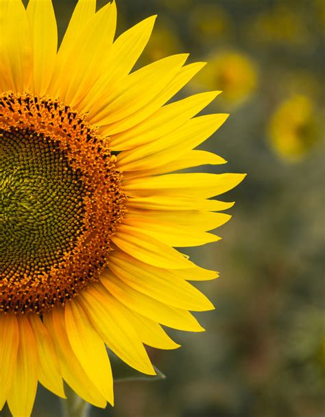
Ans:
{"label": "blurred yellow sunflower near right edge, clear of the big petals", "polygon": [[269,121],[274,151],[289,162],[298,162],[317,142],[319,123],[309,97],[293,95],[282,102]]}

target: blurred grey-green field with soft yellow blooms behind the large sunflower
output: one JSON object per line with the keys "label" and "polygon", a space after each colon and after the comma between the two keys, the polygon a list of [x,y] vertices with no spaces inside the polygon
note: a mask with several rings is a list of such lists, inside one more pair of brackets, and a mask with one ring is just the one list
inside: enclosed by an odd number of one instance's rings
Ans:
{"label": "blurred grey-green field with soft yellow blooms behind the large sunflower", "polygon": [[[53,3],[62,36],[75,0]],[[202,149],[229,163],[204,170],[248,176],[224,197],[237,201],[224,239],[188,251],[220,272],[197,285],[217,307],[198,315],[206,333],[169,331],[182,348],[150,352],[167,379],[117,383],[115,408],[91,416],[324,416],[325,1],[117,6],[119,33],[158,14],[139,64],[184,51],[209,62],[177,98],[223,91],[206,112],[230,118]],[[40,388],[33,416],[59,407]]]}

